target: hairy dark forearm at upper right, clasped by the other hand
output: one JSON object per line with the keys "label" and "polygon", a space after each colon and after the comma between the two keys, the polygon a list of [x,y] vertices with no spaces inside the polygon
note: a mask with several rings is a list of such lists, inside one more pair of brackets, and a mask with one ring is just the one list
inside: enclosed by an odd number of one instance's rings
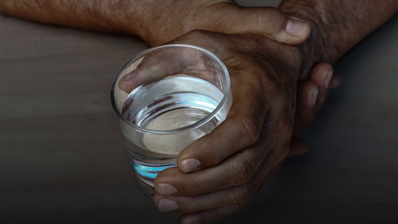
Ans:
{"label": "hairy dark forearm at upper right, clasped by the other hand", "polygon": [[310,22],[311,34],[299,45],[301,79],[318,62],[335,63],[349,49],[398,12],[396,0],[285,0],[279,9]]}

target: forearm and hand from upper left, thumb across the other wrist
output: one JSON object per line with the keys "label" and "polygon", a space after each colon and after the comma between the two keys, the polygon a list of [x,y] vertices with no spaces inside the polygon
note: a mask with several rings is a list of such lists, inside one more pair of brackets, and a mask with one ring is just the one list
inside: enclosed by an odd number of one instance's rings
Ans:
{"label": "forearm and hand from upper left, thumb across the other wrist", "polygon": [[[246,8],[232,0],[1,0],[0,12],[48,24],[133,34],[152,46],[195,29],[254,33],[287,44],[302,43],[310,32],[308,23],[273,7]],[[286,30],[288,21],[293,26]]]}

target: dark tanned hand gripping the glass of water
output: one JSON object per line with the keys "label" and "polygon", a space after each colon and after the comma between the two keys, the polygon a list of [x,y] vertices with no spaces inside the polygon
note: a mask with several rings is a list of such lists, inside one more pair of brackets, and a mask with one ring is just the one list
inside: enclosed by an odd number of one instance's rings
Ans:
{"label": "dark tanned hand gripping the glass of water", "polygon": [[[233,103],[222,124],[181,151],[178,167],[159,173],[153,203],[163,214],[185,213],[181,223],[209,223],[248,206],[288,155],[301,56],[295,47],[257,35],[194,31],[173,43],[218,55],[230,72]],[[319,84],[307,82],[303,102],[306,89]],[[321,86],[314,111],[332,85]]]}

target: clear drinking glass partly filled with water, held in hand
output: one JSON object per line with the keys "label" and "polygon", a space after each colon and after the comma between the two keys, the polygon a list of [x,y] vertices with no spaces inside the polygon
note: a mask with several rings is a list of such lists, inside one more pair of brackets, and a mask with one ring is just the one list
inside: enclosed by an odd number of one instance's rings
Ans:
{"label": "clear drinking glass partly filled with water, held in hand", "polygon": [[153,47],[117,73],[111,101],[140,189],[150,198],[160,171],[226,118],[230,79],[210,51],[185,44]]}

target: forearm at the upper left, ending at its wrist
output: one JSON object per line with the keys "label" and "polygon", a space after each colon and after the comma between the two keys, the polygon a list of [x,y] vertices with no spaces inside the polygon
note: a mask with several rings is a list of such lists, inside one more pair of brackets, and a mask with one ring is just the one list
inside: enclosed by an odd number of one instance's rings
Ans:
{"label": "forearm at the upper left, ending at its wrist", "polygon": [[146,2],[150,0],[2,0],[0,12],[47,24],[141,36]]}

